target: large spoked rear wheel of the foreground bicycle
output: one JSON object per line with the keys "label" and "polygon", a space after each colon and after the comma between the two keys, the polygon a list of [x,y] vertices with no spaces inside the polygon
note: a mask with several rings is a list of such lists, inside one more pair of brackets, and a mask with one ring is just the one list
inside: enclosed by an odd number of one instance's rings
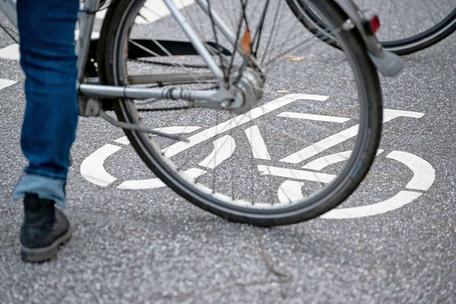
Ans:
{"label": "large spoked rear wheel of the foreground bicycle", "polygon": [[[378,75],[357,32],[341,29],[346,16],[333,1],[303,2],[328,21],[345,52],[306,31],[285,1],[244,1],[244,6],[240,1],[210,1],[212,11],[234,33],[244,33],[238,34],[239,44],[249,35],[246,29],[261,37],[254,40],[254,54],[239,56],[239,47],[212,25],[215,16],[204,14],[195,1],[175,1],[230,78],[253,61],[261,64],[266,81],[257,89],[262,98],[252,97],[256,107],[243,114],[195,108],[186,100],[117,101],[120,121],[187,134],[189,140],[125,130],[155,176],[119,188],[157,188],[162,180],[206,211],[257,226],[309,220],[355,190],[380,140]],[[103,83],[201,90],[217,86],[160,1],[112,5],[98,46]],[[260,28],[261,36],[255,36]]]}

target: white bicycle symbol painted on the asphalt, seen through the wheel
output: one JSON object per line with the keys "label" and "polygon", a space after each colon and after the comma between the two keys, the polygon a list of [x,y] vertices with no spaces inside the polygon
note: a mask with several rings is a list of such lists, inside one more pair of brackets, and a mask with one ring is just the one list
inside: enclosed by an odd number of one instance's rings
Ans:
{"label": "white bicycle symbol painted on the asphalt, seen through the wheel", "polygon": [[[259,115],[264,115],[264,113],[275,111],[276,109],[279,109],[285,106],[286,104],[296,101],[299,98],[303,98],[303,95],[292,94],[289,96],[284,96],[282,98],[276,99],[275,101],[266,103],[266,105],[264,105],[262,108],[261,114]],[[326,100],[326,98],[328,97],[306,95],[306,98],[314,98],[314,100]],[[266,111],[264,111],[265,108],[267,109]],[[306,118],[317,121],[330,121],[334,123],[346,121],[346,118],[338,118],[333,116],[316,116],[314,114],[308,113],[282,112],[279,113],[278,116]],[[392,121],[400,117],[421,118],[423,116],[423,113],[418,112],[385,109],[383,111],[383,123],[387,123],[388,121]],[[254,118],[256,117],[251,116],[250,120],[252,121]],[[242,126],[244,123],[247,123],[247,121],[242,121],[242,123],[239,124],[238,121],[237,125],[234,126],[232,120],[220,123],[218,126],[214,128],[219,129],[219,133],[222,133],[223,131],[229,130],[229,128],[239,127]],[[166,133],[175,134],[193,133],[195,131],[199,131],[191,137],[192,141],[190,141],[190,145],[183,143],[175,143],[172,146],[165,148],[164,151],[169,156],[185,151],[185,149],[190,148],[191,146],[195,146],[199,143],[202,143],[203,141],[208,141],[214,136],[217,136],[217,132],[214,133],[213,130],[209,129],[201,131],[201,128],[199,126],[172,126],[167,128],[157,128],[157,131],[164,131]],[[336,146],[339,143],[346,141],[348,138],[356,136],[356,131],[357,126],[347,128],[346,130],[343,130],[339,133],[323,138],[323,140],[318,141],[317,143],[314,143],[309,147],[306,147],[295,153],[291,153],[289,156],[281,158],[279,162],[282,164],[304,162],[311,157],[318,156],[318,153],[326,151],[328,148]],[[252,153],[254,154],[254,157],[260,160],[270,160],[271,156],[269,156],[268,149],[266,143],[264,142],[264,139],[261,138],[258,126],[249,126],[249,128],[245,129],[245,133],[252,147]],[[220,146],[226,144],[227,142],[234,143],[234,138],[231,138],[230,136],[223,136],[222,138],[218,138],[217,140],[213,141],[212,145],[214,146],[214,149],[212,150],[212,153],[209,153],[209,156],[207,156],[207,158],[204,158],[204,160],[201,163],[199,163],[199,166],[213,169],[219,166],[219,164],[221,164],[223,161],[231,157],[234,153],[235,144],[227,145],[232,148],[220,148]],[[97,151],[90,154],[90,156],[88,156],[81,164],[81,175],[84,178],[86,178],[86,180],[90,181],[90,183],[106,187],[112,184],[113,182],[117,181],[117,178],[115,178],[105,170],[105,160],[108,157],[113,156],[113,154],[115,154],[116,152],[120,151],[123,147],[128,146],[130,143],[126,136],[116,139],[114,143],[115,144],[108,143],[105,146],[102,146]],[[215,151],[220,151],[219,153],[217,153],[217,161],[214,161]],[[306,163],[302,167],[304,169],[303,171],[283,168],[279,166],[258,166],[258,169],[260,173],[265,175],[286,178],[286,181],[284,181],[281,184],[277,191],[279,201],[286,202],[290,198],[299,199],[302,196],[301,187],[304,185],[304,181],[313,181],[316,176],[318,177],[318,181],[325,181],[325,178],[328,180],[327,182],[331,181],[331,175],[318,172],[323,171],[323,169],[330,165],[346,161],[350,154],[351,151],[343,151],[339,153],[333,153],[327,156],[322,156],[320,158],[316,158],[314,159],[314,161]],[[401,208],[411,203],[415,199],[422,196],[423,193],[425,193],[425,191],[427,191],[432,186],[432,183],[434,183],[435,170],[434,168],[432,168],[430,163],[425,161],[423,158],[420,158],[419,156],[416,156],[413,153],[408,153],[405,151],[391,151],[387,155],[384,154],[384,151],[381,149],[379,149],[377,152],[378,157],[385,157],[393,161],[398,161],[398,163],[401,163],[403,166],[406,166],[410,169],[410,171],[412,171],[413,177],[410,179],[410,181],[408,181],[405,188],[403,190],[398,191],[398,193],[384,201],[380,201],[366,206],[357,206],[351,208],[335,208],[329,211],[328,213],[323,214],[321,218],[361,218],[366,216],[375,216],[381,213],[386,213],[388,211],[393,211],[395,209]],[[311,171],[312,173],[309,174],[309,171]],[[201,176],[204,173],[205,171],[199,168],[190,168],[189,170],[187,170],[187,174],[195,178],[197,176]],[[163,183],[159,178],[152,178],[143,180],[123,181],[122,183],[120,183],[120,185],[117,186],[117,188],[138,190],[161,188],[165,186],[165,183]]]}

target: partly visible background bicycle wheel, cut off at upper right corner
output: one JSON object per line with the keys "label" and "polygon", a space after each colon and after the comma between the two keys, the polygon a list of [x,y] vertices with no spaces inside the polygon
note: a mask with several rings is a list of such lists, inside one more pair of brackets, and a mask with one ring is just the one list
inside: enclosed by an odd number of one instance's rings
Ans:
{"label": "partly visible background bicycle wheel, cut off at upper right corner", "polygon": [[[376,36],[385,50],[408,55],[437,44],[456,31],[456,1],[375,1],[363,0],[363,9],[380,16]],[[431,2],[429,4],[429,2]],[[325,24],[309,6],[301,3],[301,22],[327,44],[338,48],[337,39],[324,33]],[[378,22],[378,21],[375,21]],[[374,26],[377,26],[374,24]]]}

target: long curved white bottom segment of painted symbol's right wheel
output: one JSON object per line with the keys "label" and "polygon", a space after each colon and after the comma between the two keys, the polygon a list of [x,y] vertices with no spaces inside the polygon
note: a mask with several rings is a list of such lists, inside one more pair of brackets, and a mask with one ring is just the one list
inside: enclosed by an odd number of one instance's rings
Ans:
{"label": "long curved white bottom segment of painted symbol's right wheel", "polygon": [[388,211],[396,210],[400,207],[411,203],[416,198],[419,198],[423,193],[413,191],[400,191],[392,198],[374,203],[368,206],[359,206],[353,208],[336,208],[320,216],[320,218],[364,218],[366,216],[377,216]]}

